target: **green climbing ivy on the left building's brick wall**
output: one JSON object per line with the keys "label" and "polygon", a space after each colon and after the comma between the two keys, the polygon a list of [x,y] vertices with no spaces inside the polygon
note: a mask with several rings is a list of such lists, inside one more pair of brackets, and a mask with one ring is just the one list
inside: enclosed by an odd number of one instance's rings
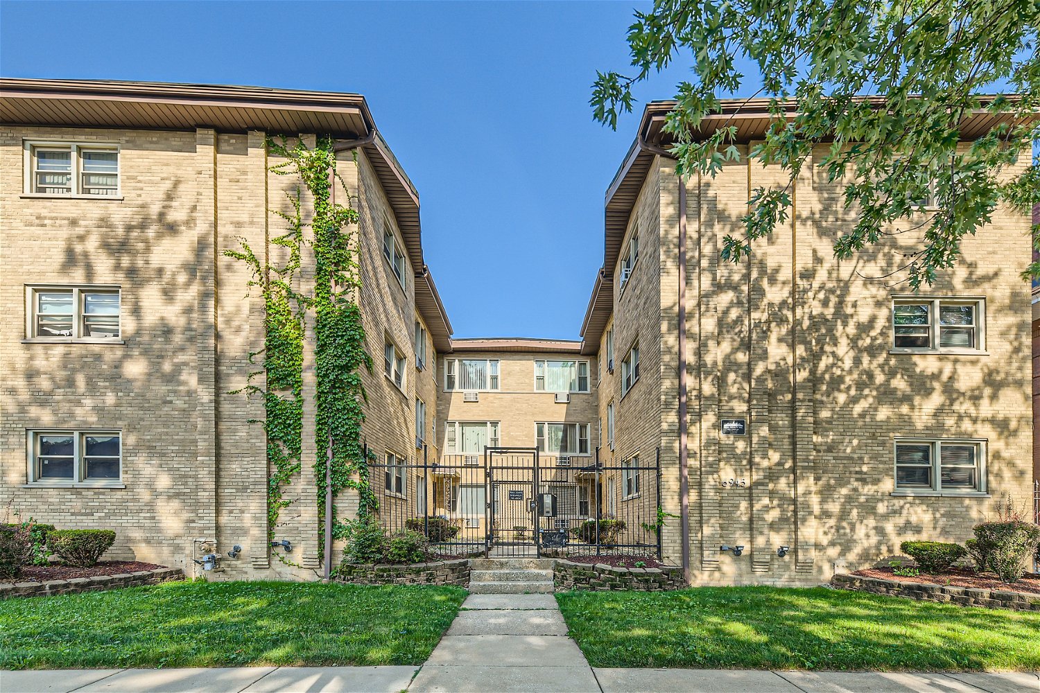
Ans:
{"label": "green climbing ivy on the left building's brick wall", "polygon": [[[266,388],[250,384],[245,390],[264,397],[264,430],[267,433],[267,460],[271,469],[268,487],[268,535],[274,537],[282,509],[291,504],[283,489],[301,470],[303,431],[303,364],[306,314],[314,315],[314,363],[317,378],[315,394],[316,448],[314,478],[319,519],[324,519],[326,464],[332,449],[332,490],[354,488],[360,497],[359,515],[364,517],[376,508],[375,495],[368,483],[361,425],[367,401],[361,381],[361,367],[369,372],[372,361],[365,350],[365,331],[358,308],[361,277],[358,266],[356,234],[358,212],[349,206],[346,185],[335,172],[336,153],[331,137],[319,138],[310,149],[302,139],[267,139],[269,154],[281,161],[269,167],[277,176],[296,176],[301,185],[287,193],[292,213],[276,211],[288,224],[287,232],[270,243],[288,250],[281,263],[261,261],[244,239],[240,250],[224,255],[248,263],[253,270],[250,287],[259,287],[264,296],[264,349],[251,354],[251,361],[263,355]],[[335,202],[334,186],[339,184],[347,205]],[[304,219],[304,191],[312,205],[310,221]],[[314,286],[311,292],[293,289],[301,268],[305,229],[314,254]],[[283,254],[285,255],[285,254]],[[259,373],[259,372],[258,372]],[[354,475],[357,475],[355,478]],[[345,524],[336,518],[333,505],[333,535],[342,536]],[[319,554],[324,537],[320,535]],[[281,554],[276,554],[288,562]]]}

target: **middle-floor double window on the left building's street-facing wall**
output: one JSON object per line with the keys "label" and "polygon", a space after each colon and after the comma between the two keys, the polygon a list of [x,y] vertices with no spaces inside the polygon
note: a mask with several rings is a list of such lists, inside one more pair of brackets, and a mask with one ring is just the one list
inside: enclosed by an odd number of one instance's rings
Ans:
{"label": "middle-floor double window on the left building's street-facing wall", "polygon": [[120,290],[105,287],[32,287],[27,336],[41,340],[116,340]]}

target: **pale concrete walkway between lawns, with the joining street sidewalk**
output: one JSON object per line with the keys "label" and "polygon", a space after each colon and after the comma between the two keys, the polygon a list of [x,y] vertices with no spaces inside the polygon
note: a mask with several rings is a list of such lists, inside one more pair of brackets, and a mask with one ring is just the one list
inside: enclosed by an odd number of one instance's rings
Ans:
{"label": "pale concrete walkway between lawns, with the joining street sidewalk", "polygon": [[593,669],[552,594],[470,594],[421,667],[0,671],[0,693],[1040,693],[1037,673]]}

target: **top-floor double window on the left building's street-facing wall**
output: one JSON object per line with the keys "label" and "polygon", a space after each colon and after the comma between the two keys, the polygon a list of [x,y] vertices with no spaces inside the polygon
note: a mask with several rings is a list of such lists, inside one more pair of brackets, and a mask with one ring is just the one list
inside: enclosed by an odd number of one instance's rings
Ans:
{"label": "top-floor double window on the left building's street-facing wall", "polygon": [[120,194],[120,152],[114,145],[30,143],[27,156],[26,192],[90,197]]}

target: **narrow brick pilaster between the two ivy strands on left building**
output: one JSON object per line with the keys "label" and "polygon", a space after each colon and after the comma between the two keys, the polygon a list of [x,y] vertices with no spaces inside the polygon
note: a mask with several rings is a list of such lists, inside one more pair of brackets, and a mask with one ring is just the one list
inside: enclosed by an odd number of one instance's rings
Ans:
{"label": "narrow brick pilaster between the two ivy strands on left building", "polygon": [[[314,135],[302,135],[304,143],[313,149]],[[303,184],[301,183],[303,187]],[[311,210],[313,198],[304,189],[301,191],[301,212],[304,215],[303,240],[300,251],[300,289],[304,295],[314,295],[314,273],[316,271],[314,247],[314,230],[311,229]],[[297,541],[300,541],[300,563],[305,568],[317,568],[321,564],[318,556],[318,534],[321,528],[318,524],[317,483],[314,477],[314,464],[317,461],[318,448],[324,450],[324,445],[318,445],[316,439],[317,406],[317,371],[314,361],[314,348],[317,345],[315,335],[316,319],[313,310],[305,313],[304,320],[304,427],[303,449],[300,455],[300,500],[296,511],[298,519]]]}

